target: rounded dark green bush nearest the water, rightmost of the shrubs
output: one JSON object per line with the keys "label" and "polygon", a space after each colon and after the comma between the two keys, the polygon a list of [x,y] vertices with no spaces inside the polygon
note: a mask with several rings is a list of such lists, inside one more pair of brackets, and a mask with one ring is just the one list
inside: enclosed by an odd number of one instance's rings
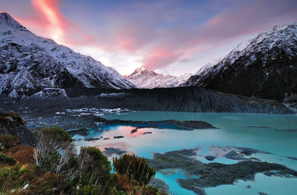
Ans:
{"label": "rounded dark green bush nearest the water, rightmost of the shrubs", "polygon": [[113,167],[117,174],[126,174],[130,180],[136,180],[140,185],[148,184],[156,174],[154,167],[149,167],[143,158],[137,158],[135,154],[113,158]]}

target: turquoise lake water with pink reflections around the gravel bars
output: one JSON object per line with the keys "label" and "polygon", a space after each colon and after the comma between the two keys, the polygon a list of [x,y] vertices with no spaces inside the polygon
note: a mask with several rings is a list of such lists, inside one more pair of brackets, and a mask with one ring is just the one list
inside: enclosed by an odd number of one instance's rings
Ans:
{"label": "turquoise lake water with pink reflections around the gravel bars", "polygon": [[[138,156],[152,158],[154,152],[183,148],[199,147],[199,155],[216,155],[217,147],[249,147],[269,152],[271,154],[256,153],[249,157],[259,158],[269,163],[283,164],[297,170],[297,161],[287,156],[297,157],[297,132],[279,132],[282,129],[297,129],[297,116],[277,114],[247,114],[247,113],[184,113],[184,112],[157,112],[141,111],[103,116],[106,119],[122,120],[202,120],[220,129],[195,129],[193,131],[177,130],[171,127],[164,129],[143,128],[131,134],[131,130],[137,125],[103,125],[98,129],[90,129],[89,136],[74,135],[74,139],[82,139],[75,143],[81,145],[98,146],[101,150],[105,147],[115,147],[128,152],[135,152]],[[267,126],[271,128],[250,128],[246,126]],[[142,134],[152,132],[151,134]],[[86,138],[108,138],[108,140],[83,141]],[[121,139],[113,139],[113,136],[124,136]],[[116,156],[112,154],[111,156]],[[197,159],[204,163],[219,162],[237,163],[222,155],[214,161],[208,161],[203,156]],[[110,157],[111,158],[111,157]],[[192,191],[181,188],[176,182],[177,178],[185,178],[182,171],[176,174],[166,175],[162,172],[156,174],[157,178],[168,183],[170,190],[178,194],[195,194]],[[250,188],[245,188],[250,185]],[[204,188],[206,194],[296,194],[297,178],[285,178],[265,176],[258,173],[255,181],[241,181],[234,185],[221,185],[214,188]]]}

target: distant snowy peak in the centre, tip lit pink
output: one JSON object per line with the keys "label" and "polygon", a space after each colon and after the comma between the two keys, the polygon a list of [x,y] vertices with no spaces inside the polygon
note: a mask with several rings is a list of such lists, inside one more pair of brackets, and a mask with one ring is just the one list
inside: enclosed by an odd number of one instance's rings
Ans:
{"label": "distant snowy peak in the centre, tip lit pink", "polygon": [[148,71],[145,67],[139,67],[132,74],[124,77],[138,88],[153,89],[157,87],[177,87],[187,81],[190,76],[192,76],[191,73],[180,76],[163,75],[154,71]]}

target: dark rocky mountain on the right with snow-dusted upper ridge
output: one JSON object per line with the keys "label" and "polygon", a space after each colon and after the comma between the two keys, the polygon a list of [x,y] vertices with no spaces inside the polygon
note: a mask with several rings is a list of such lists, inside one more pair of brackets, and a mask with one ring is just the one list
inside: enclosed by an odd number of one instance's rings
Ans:
{"label": "dark rocky mountain on the right with snow-dusted upper ridge", "polygon": [[274,100],[297,99],[297,22],[274,26],[239,44],[183,86]]}

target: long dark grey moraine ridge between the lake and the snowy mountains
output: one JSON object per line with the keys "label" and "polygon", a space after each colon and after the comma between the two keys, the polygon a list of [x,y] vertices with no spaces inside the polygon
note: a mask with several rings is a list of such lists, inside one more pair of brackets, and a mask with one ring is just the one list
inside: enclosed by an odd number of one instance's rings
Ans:
{"label": "long dark grey moraine ridge between the lake and the snowy mountains", "polygon": [[[127,108],[140,111],[274,113],[294,112],[274,100],[215,92],[198,86],[154,89],[36,88],[30,92],[1,94],[3,108]],[[11,99],[11,100],[10,100]],[[38,102],[38,103],[37,103]]]}

